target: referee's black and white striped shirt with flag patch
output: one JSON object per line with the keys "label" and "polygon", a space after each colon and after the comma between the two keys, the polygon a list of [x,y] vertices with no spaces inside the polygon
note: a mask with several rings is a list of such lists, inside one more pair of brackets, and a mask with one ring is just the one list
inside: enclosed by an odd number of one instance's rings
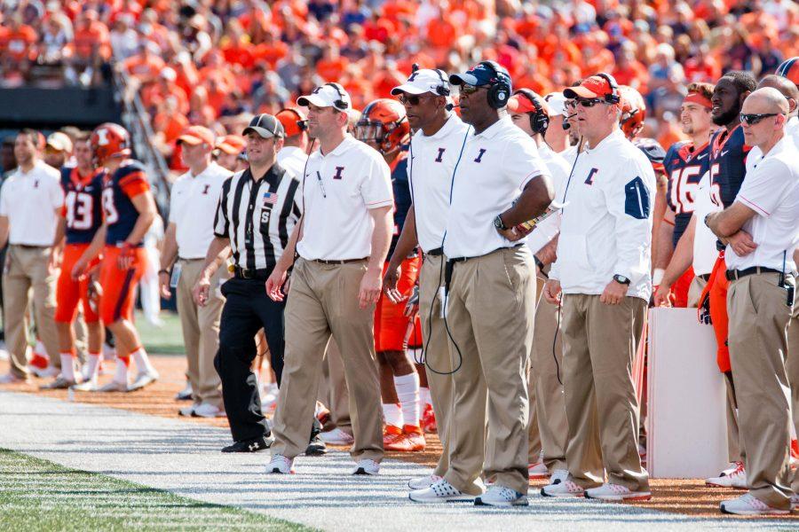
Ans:
{"label": "referee's black and white striped shirt with flag patch", "polygon": [[222,185],[214,234],[230,239],[236,266],[272,270],[302,214],[301,201],[300,182],[278,163],[259,181],[247,168]]}

